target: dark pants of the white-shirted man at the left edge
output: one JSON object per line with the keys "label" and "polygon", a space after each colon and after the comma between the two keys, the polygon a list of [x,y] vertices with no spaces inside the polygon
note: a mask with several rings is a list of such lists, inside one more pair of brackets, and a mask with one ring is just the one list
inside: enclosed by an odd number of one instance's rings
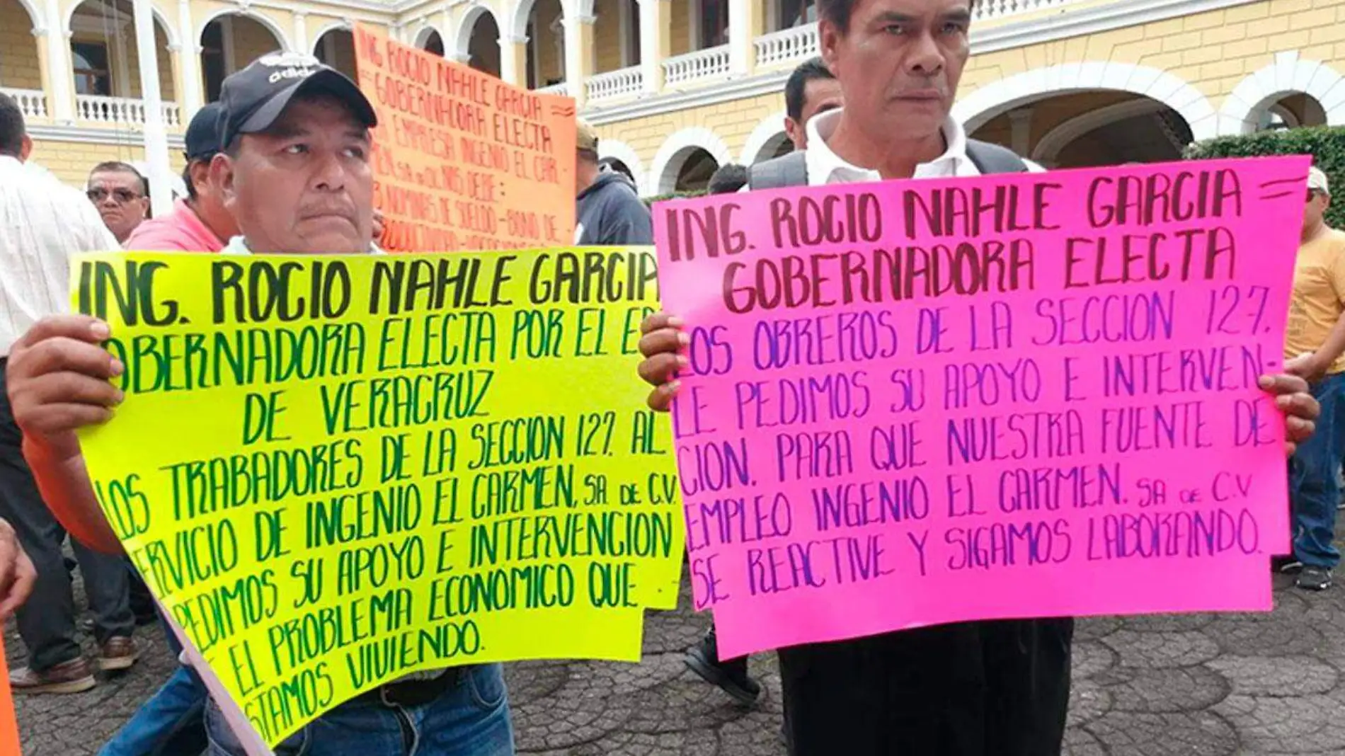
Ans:
{"label": "dark pants of the white-shirted man at the left edge", "polygon": [[[23,459],[23,436],[9,409],[4,369],[5,361],[0,359],[0,517],[13,526],[19,543],[38,569],[32,596],[19,609],[17,619],[19,636],[28,647],[28,666],[43,671],[79,656],[82,650],[75,640],[70,573],[61,553],[66,531],[42,502],[32,471]],[[78,542],[71,545],[93,609],[94,636],[100,643],[113,636],[129,638],[134,617],[128,604],[125,564],[120,557],[90,552]]]}

